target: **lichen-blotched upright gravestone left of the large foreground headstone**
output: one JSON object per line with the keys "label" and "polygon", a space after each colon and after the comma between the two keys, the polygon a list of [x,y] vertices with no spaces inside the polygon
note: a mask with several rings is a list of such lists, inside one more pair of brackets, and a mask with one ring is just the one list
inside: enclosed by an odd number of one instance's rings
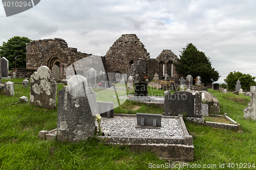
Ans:
{"label": "lichen-blotched upright gravestone left of the large foreground headstone", "polygon": [[40,66],[30,77],[30,104],[55,109],[57,83],[47,66]]}

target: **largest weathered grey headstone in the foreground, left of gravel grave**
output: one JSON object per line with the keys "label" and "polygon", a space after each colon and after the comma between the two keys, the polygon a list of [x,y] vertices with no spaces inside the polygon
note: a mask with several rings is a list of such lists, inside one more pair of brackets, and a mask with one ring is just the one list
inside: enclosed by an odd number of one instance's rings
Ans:
{"label": "largest weathered grey headstone in the foreground, left of gravel grave", "polygon": [[94,135],[95,116],[84,91],[86,79],[71,79],[58,93],[57,139],[77,142]]}

